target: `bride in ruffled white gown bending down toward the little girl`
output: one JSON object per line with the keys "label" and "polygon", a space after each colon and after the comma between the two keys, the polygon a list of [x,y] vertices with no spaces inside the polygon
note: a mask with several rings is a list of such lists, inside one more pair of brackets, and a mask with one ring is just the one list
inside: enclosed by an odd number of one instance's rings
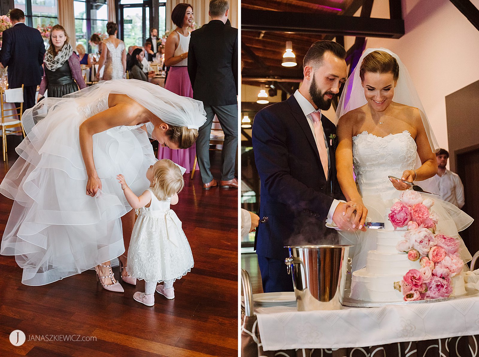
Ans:
{"label": "bride in ruffled white gown bending down toward the little girl", "polygon": [[105,263],[97,267],[103,287],[123,291],[108,264],[125,252],[135,217],[116,175],[145,190],[144,172],[157,161],[145,123],[160,145],[189,147],[205,122],[203,103],[135,79],[42,102],[23,115],[28,135],[0,184],[15,200],[0,253],[15,256],[26,285]]}

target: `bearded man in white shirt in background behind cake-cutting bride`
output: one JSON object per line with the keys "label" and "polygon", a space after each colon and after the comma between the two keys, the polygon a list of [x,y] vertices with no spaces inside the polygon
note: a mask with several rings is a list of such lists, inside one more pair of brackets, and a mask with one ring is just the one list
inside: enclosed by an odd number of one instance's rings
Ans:
{"label": "bearded man in white shirt in background behind cake-cutting bride", "polygon": [[441,199],[462,208],[464,206],[464,186],[459,175],[446,169],[448,158],[449,153],[445,149],[440,149],[436,153],[437,174],[434,178],[439,187]]}

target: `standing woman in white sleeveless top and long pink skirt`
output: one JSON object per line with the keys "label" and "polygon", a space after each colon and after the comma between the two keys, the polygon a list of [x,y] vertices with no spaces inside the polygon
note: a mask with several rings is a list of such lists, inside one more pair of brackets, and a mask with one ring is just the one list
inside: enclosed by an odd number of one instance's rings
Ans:
{"label": "standing woman in white sleeveless top and long pink skirt", "polygon": [[[171,20],[177,27],[165,43],[165,65],[170,67],[165,88],[183,97],[193,98],[193,88],[188,76],[188,46],[193,23],[193,7],[185,3],[176,5],[171,12]],[[195,152],[196,145],[180,150],[159,147],[158,158],[170,159],[185,167],[186,173],[189,173],[193,169]]]}

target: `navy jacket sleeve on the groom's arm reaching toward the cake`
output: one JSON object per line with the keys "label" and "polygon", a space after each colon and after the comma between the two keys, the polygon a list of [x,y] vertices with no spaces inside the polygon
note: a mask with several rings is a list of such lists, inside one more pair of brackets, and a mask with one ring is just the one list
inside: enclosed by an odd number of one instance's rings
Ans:
{"label": "navy jacket sleeve on the groom's arm reaching toward the cake", "polygon": [[[262,110],[254,118],[252,141],[256,167],[265,189],[274,200],[295,212],[308,210],[325,220],[333,198],[309,188],[294,178],[288,165],[288,128],[274,114]],[[291,143],[290,145],[295,145]]]}

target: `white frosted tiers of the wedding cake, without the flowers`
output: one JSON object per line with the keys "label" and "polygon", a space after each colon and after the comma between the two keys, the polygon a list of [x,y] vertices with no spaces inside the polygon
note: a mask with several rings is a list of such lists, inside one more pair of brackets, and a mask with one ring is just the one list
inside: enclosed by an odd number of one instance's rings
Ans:
{"label": "white frosted tiers of the wedding cake, without the flowers", "polygon": [[[404,301],[403,294],[394,289],[394,282],[401,281],[410,269],[420,269],[419,259],[411,261],[408,255],[396,249],[399,241],[404,239],[407,227],[394,230],[385,215],[385,229],[377,230],[377,248],[367,253],[366,267],[353,272],[351,298],[354,300],[374,302]],[[451,281],[453,295],[466,293],[464,278],[457,275]]]}

